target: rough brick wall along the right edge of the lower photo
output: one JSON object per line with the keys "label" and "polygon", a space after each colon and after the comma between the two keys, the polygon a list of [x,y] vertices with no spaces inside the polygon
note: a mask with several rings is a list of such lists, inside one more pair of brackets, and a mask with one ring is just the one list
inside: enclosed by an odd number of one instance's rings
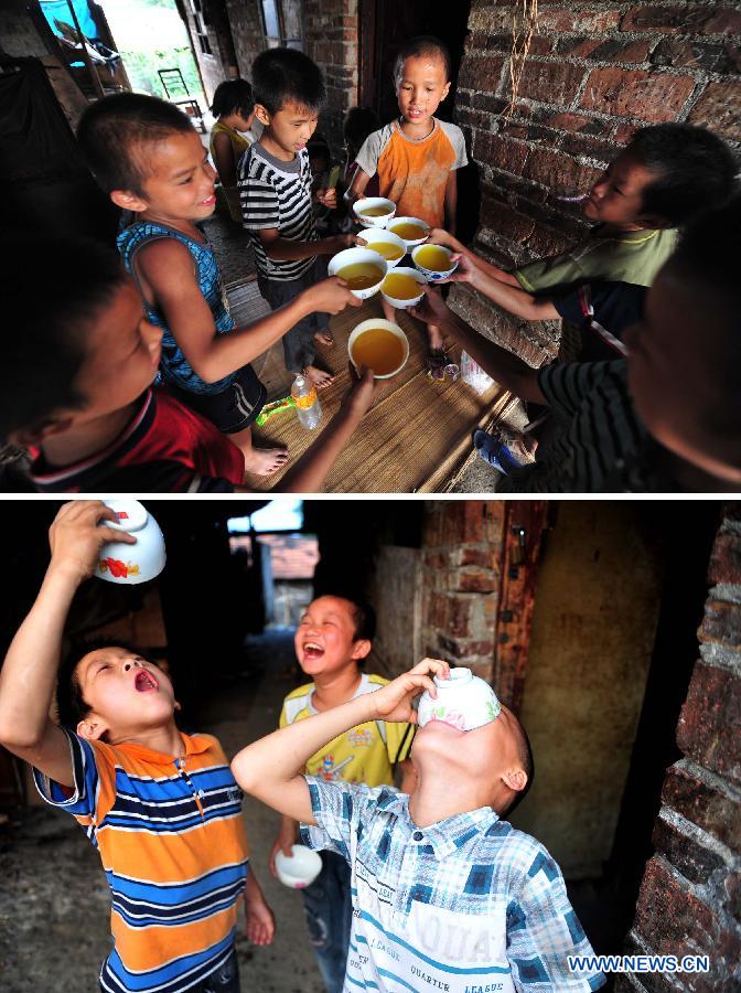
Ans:
{"label": "rough brick wall along the right edge of the lower photo", "polygon": [[707,954],[710,972],[621,976],[616,991],[741,989],[741,504],[726,510],[629,954]]}

